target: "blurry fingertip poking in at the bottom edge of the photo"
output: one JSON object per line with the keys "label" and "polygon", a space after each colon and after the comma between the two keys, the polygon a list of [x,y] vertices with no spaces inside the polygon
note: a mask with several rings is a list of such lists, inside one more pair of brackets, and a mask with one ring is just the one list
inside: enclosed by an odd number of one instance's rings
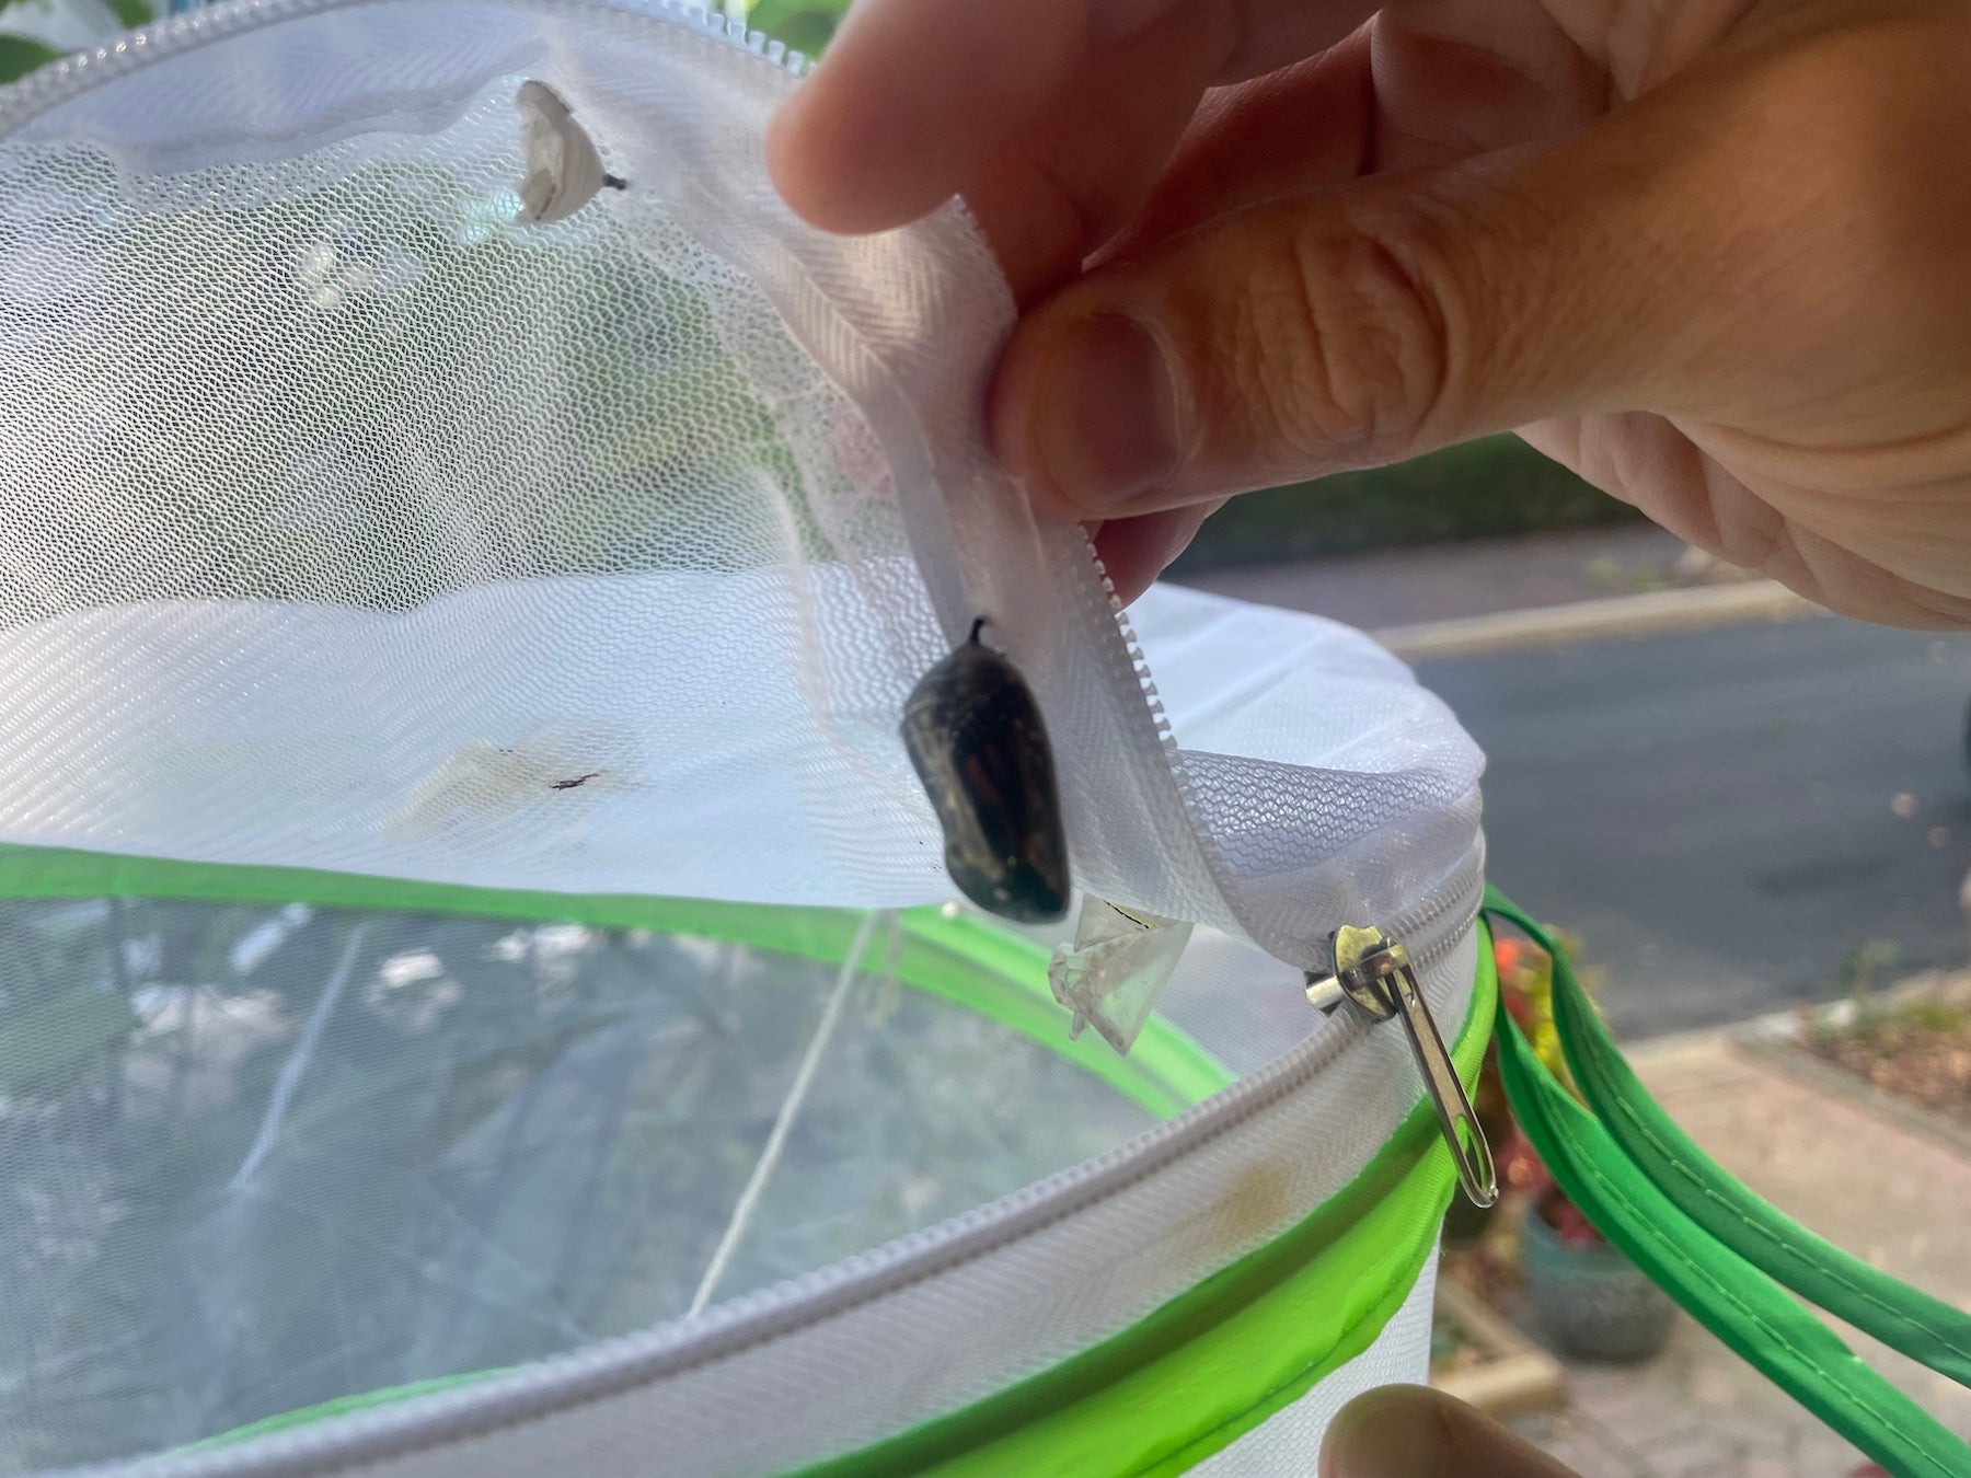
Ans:
{"label": "blurry fingertip poking in at the bottom edge of the photo", "polygon": [[1328,1425],[1321,1478],[1575,1478],[1462,1401],[1421,1385],[1358,1395]]}

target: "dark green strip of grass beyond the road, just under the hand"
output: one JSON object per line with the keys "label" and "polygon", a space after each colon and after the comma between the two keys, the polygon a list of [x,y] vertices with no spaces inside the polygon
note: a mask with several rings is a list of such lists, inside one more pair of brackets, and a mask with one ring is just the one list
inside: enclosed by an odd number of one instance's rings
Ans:
{"label": "dark green strip of grass beyond the road, just under the hand", "polygon": [[1175,570],[1593,528],[1640,516],[1520,437],[1494,436],[1395,467],[1232,499],[1204,522]]}

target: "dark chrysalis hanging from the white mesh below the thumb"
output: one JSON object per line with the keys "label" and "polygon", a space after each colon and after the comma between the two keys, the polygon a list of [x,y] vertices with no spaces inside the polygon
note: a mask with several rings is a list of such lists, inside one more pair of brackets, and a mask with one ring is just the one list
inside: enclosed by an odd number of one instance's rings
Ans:
{"label": "dark chrysalis hanging from the white mesh below the thumb", "polygon": [[944,828],[944,867],[980,908],[1017,924],[1068,912],[1054,751],[1019,668],[972,637],[903,705],[903,743]]}

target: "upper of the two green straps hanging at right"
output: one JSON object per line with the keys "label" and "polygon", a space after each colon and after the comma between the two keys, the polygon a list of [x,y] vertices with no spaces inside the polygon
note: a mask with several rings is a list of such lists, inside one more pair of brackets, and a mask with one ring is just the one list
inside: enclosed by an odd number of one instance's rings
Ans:
{"label": "upper of the two green straps hanging at right", "polygon": [[[1520,908],[1498,897],[1488,907],[1547,948],[1543,930]],[[1971,1312],[1817,1238],[1705,1155],[1622,1060],[1565,954],[1553,960],[1553,1019],[1581,1096],[1677,1210],[1807,1303],[1971,1385]]]}

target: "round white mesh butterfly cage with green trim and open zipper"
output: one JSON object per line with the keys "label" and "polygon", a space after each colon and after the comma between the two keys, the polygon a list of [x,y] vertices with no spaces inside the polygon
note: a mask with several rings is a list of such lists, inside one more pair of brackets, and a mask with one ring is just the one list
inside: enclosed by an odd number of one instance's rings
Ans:
{"label": "round white mesh butterfly cage with green trim and open zipper", "polygon": [[779,203],[798,71],[252,0],[0,93],[0,1472],[1305,1472],[1421,1379],[1478,751],[1123,613],[966,211]]}

